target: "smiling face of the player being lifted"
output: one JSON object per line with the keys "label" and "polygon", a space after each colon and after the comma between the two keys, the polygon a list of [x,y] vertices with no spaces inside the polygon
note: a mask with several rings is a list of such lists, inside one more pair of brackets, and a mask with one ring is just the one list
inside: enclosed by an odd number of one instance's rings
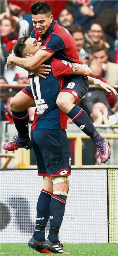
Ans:
{"label": "smiling face of the player being lifted", "polygon": [[53,16],[50,13],[46,14],[32,14],[32,22],[40,35],[44,35],[53,21]]}

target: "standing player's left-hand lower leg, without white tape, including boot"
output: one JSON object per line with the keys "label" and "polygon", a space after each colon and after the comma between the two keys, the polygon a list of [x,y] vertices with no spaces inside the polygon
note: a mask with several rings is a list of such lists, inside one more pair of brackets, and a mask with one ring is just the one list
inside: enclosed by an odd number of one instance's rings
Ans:
{"label": "standing player's left-hand lower leg, without white tape, including boot", "polygon": [[47,187],[46,183],[48,182],[49,191],[45,189],[41,190],[41,194],[39,196],[37,207],[36,207],[36,211],[37,211],[36,226],[34,229],[34,234],[30,239],[30,241],[28,242],[28,246],[40,253],[51,253],[48,250],[44,251],[43,244],[45,243],[45,227],[49,219],[49,207],[50,207],[53,187],[52,187],[51,178],[44,177],[43,179],[44,179],[43,187]]}

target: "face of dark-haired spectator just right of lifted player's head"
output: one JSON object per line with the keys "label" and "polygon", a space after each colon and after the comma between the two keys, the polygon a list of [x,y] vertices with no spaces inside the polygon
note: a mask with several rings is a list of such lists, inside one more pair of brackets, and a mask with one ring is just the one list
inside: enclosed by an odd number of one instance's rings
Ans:
{"label": "face of dark-haired spectator just right of lifted player's head", "polygon": [[59,15],[59,22],[62,26],[68,27],[73,22],[73,15],[67,9],[64,9]]}

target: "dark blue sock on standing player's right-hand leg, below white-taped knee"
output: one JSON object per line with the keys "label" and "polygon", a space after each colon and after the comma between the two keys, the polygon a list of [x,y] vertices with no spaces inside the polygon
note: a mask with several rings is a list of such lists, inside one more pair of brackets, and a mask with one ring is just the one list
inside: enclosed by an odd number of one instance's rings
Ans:
{"label": "dark blue sock on standing player's right-hand leg, below white-taped knee", "polygon": [[50,203],[50,228],[48,238],[51,243],[58,243],[58,233],[64,216],[66,195],[52,195]]}

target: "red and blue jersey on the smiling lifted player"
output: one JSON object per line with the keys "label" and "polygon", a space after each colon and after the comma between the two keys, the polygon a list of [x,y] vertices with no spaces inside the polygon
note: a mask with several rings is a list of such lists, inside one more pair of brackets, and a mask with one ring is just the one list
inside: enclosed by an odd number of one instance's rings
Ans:
{"label": "red and blue jersey on the smiling lifted player", "polygon": [[41,40],[43,43],[41,50],[54,54],[53,58],[83,64],[79,60],[73,37],[66,28],[60,26],[54,20],[45,35],[40,35],[34,28],[31,37],[36,38],[37,41]]}

